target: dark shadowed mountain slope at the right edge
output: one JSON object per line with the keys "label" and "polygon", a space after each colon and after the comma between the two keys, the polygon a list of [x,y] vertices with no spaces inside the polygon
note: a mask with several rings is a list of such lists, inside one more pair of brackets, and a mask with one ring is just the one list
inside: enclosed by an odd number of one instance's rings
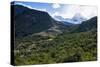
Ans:
{"label": "dark shadowed mountain slope at the right edge", "polygon": [[92,29],[97,29],[97,16],[83,21],[74,32],[86,32],[90,31]]}

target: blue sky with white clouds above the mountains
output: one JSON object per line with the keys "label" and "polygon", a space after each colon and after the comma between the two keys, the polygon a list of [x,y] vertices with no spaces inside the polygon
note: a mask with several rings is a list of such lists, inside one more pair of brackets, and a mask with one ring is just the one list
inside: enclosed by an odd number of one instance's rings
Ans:
{"label": "blue sky with white clouds above the mountains", "polygon": [[53,18],[55,18],[55,16],[61,16],[64,19],[72,18],[76,14],[80,14],[86,19],[90,19],[94,16],[97,16],[96,6],[70,5],[70,4],[58,4],[58,3],[21,2],[21,1],[16,1],[15,4],[20,4],[29,7],[31,9],[46,11]]}

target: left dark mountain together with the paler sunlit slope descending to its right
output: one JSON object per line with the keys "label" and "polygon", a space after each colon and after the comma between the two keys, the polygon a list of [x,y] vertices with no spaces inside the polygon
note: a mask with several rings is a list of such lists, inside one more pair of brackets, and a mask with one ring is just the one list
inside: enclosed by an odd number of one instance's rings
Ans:
{"label": "left dark mountain together with the paler sunlit slope descending to its right", "polygon": [[[47,12],[29,9],[22,5],[11,5],[11,15],[15,24],[15,36],[30,34],[58,34],[69,26],[53,19]],[[14,12],[14,13],[13,13]]]}

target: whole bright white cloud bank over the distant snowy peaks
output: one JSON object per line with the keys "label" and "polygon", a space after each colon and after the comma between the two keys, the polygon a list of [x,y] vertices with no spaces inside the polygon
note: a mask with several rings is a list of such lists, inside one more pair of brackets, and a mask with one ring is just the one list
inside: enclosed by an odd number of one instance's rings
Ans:
{"label": "whole bright white cloud bank over the distant snowy peaks", "polygon": [[97,16],[97,8],[95,6],[83,5],[64,5],[61,10],[55,11],[52,16],[62,16],[63,18],[72,18],[75,14],[80,14],[89,19]]}

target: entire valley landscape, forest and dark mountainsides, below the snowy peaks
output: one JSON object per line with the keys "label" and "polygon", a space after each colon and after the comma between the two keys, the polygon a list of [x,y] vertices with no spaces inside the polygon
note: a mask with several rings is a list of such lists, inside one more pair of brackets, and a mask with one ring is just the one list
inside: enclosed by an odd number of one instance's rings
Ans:
{"label": "entire valley landscape, forest and dark mountainsides, below the snowy peaks", "polygon": [[15,11],[15,65],[97,60],[97,16],[72,24],[22,5],[11,9]]}

